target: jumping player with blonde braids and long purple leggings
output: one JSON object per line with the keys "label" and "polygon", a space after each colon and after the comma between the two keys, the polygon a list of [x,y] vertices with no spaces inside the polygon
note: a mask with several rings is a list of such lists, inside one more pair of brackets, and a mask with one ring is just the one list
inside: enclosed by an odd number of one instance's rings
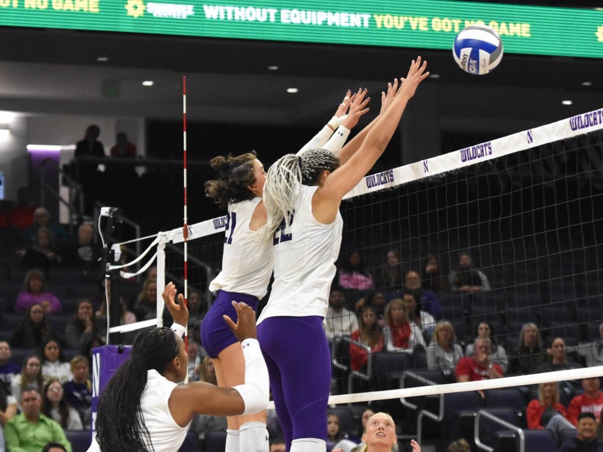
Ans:
{"label": "jumping player with blonde braids and long purple leggings", "polygon": [[[385,150],[407,102],[429,75],[425,69],[426,63],[421,66],[419,57],[412,61],[402,86],[398,87],[396,80],[387,94],[382,93],[379,116],[344,146],[339,153],[341,166],[329,152],[314,149],[301,157],[285,155],[268,172],[264,239],[274,248],[275,280],[258,321],[258,338],[285,444],[291,452],[324,452],[326,447],[324,419],[331,375],[321,321],[341,242],[339,204]],[[356,121],[368,110],[365,95],[366,90],[359,90],[350,104],[348,115]],[[308,227],[317,228],[314,236],[303,231]],[[299,244],[289,243],[298,237]]]}

